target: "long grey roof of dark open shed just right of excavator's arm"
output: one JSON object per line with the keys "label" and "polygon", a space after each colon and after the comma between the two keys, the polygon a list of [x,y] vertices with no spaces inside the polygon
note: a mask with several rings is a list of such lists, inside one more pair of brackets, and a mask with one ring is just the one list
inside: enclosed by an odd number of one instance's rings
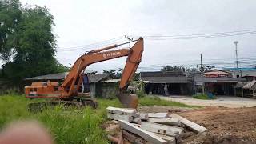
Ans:
{"label": "long grey roof of dark open shed just right of excavator's arm", "polygon": [[187,77],[143,77],[143,81],[150,83],[191,83],[192,78]]}

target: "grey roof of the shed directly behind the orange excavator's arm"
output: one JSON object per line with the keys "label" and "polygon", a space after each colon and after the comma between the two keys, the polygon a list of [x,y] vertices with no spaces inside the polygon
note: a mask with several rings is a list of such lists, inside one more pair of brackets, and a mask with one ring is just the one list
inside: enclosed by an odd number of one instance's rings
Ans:
{"label": "grey roof of the shed directly behind the orange excavator's arm", "polygon": [[[26,78],[25,80],[28,81],[47,81],[47,80],[55,80],[55,81],[63,81],[66,77],[67,73],[58,73],[58,74],[47,74],[47,75],[41,75],[38,77],[33,78]],[[106,77],[108,77],[110,74],[87,74],[89,77],[90,82],[98,82]]]}

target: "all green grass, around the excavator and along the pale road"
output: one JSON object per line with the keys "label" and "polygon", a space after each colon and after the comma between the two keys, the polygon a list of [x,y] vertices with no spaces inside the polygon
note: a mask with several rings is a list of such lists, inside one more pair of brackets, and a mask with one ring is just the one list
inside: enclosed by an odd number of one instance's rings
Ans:
{"label": "all green grass, around the excavator and along the pale road", "polygon": [[[66,110],[60,105],[41,113],[30,113],[27,105],[38,101],[42,100],[30,100],[16,94],[0,96],[0,130],[13,121],[35,119],[47,127],[56,143],[108,143],[106,133],[101,128],[102,123],[106,122],[106,107],[122,107],[118,99],[98,99],[99,106],[96,110],[90,107]],[[180,102],[148,97],[140,98],[139,102],[142,106],[191,107]]]}

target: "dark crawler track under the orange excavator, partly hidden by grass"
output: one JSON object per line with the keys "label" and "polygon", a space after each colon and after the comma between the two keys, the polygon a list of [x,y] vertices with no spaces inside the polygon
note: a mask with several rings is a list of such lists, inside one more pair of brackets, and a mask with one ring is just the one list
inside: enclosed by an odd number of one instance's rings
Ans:
{"label": "dark crawler track under the orange excavator, partly hidden by grass", "polygon": [[[78,100],[78,99],[76,99]],[[70,106],[77,107],[78,109],[81,109],[84,106],[90,106],[94,109],[98,107],[98,102],[96,102],[92,98],[82,98],[79,99],[80,101],[63,101],[63,100],[54,100],[54,101],[48,101],[48,102],[37,102],[37,103],[30,103],[28,105],[28,110],[30,112],[42,112],[42,110],[46,110],[47,108],[54,107],[57,105],[63,105],[65,108],[68,108]]]}

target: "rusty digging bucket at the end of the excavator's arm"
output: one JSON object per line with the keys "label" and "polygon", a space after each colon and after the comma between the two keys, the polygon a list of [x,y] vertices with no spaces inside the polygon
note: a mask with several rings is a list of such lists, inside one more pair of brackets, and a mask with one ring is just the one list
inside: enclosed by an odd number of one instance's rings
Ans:
{"label": "rusty digging bucket at the end of the excavator's arm", "polygon": [[134,109],[136,109],[138,106],[138,96],[136,94],[120,93],[117,95],[117,97],[119,101],[122,103],[122,106]]}

